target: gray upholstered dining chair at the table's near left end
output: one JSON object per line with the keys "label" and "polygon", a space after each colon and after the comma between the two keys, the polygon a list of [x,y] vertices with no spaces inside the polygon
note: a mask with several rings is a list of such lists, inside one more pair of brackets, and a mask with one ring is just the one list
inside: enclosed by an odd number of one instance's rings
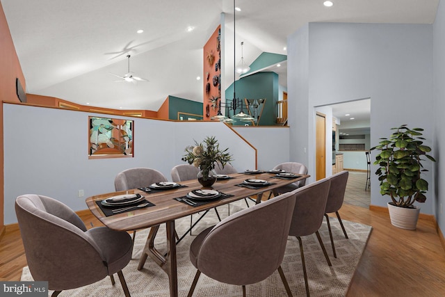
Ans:
{"label": "gray upholstered dining chair at the table's near left end", "polygon": [[47,281],[52,296],[92,284],[118,273],[125,296],[130,296],[122,268],[131,259],[127,232],[107,227],[86,229],[81,218],[62,202],[42,195],[21,195],[15,212],[26,261],[36,281]]}

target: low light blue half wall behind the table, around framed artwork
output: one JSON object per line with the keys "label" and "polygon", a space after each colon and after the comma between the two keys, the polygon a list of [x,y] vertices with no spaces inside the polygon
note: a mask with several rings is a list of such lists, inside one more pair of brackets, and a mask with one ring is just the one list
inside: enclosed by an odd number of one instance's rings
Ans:
{"label": "low light blue half wall behind the table, around framed artwork", "polygon": [[[111,115],[19,104],[3,104],[3,111],[5,224],[17,222],[18,195],[47,195],[77,211],[87,208],[88,196],[114,191],[114,178],[124,169],[155,168],[170,179],[171,168],[184,163],[184,148],[205,136],[216,136],[220,147],[229,147],[232,165],[240,172],[255,166],[269,169],[289,159],[289,129],[283,127],[245,129],[243,138],[252,147],[222,122],[132,118],[134,157],[90,160],[88,115]],[[78,190],[85,197],[77,197]]]}

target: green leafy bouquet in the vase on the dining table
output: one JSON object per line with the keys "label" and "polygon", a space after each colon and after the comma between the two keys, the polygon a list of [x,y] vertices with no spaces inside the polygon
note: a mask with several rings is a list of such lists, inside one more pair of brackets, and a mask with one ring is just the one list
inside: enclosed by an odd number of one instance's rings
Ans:
{"label": "green leafy bouquet in the vase on the dining table", "polygon": [[206,176],[209,171],[215,168],[216,163],[224,166],[233,161],[232,155],[227,152],[229,149],[220,150],[220,145],[215,136],[207,136],[202,143],[186,147],[186,154],[182,156],[182,161],[193,164],[202,170],[202,175]]}

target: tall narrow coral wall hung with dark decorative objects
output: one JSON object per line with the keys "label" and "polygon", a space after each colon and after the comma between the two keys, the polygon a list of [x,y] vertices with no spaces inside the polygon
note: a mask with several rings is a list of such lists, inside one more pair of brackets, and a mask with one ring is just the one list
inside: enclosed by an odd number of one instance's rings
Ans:
{"label": "tall narrow coral wall hung with dark decorative objects", "polygon": [[[220,79],[221,79],[221,70],[219,63],[218,67],[216,65],[218,64],[218,61],[220,61],[221,58],[221,49],[219,47],[219,38],[220,38],[220,29],[221,26],[218,26],[216,28],[215,32],[211,35],[209,38],[209,41],[204,45],[204,65],[203,67],[203,79],[204,82],[204,99],[202,101],[202,115],[204,115],[204,120],[211,120],[211,117],[213,115],[216,115],[218,113],[218,104],[220,102],[221,97],[221,90],[220,90]],[[208,56],[209,54],[212,54],[214,56],[213,62],[209,63]],[[218,77],[218,85],[213,86],[213,77]],[[206,85],[209,83],[210,89],[209,92],[206,90]],[[216,106],[212,106],[211,99],[217,97],[215,104]],[[213,104],[214,105],[214,104]]]}

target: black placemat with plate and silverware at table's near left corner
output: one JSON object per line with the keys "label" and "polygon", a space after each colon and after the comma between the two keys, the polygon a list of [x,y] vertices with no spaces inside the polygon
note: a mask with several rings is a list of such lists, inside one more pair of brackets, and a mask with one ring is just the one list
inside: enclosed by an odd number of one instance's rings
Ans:
{"label": "black placemat with plate and silverware at table's near left corner", "polygon": [[154,206],[152,202],[145,200],[145,197],[140,194],[116,195],[104,200],[97,200],[96,204],[104,212],[105,216],[113,216],[113,214],[122,214],[127,211]]}

